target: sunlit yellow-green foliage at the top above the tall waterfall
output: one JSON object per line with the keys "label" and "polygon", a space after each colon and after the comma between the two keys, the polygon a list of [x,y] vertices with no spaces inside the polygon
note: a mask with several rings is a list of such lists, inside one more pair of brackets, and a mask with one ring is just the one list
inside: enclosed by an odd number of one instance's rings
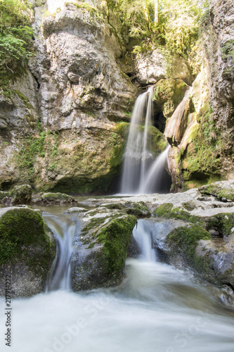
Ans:
{"label": "sunlit yellow-green foliage at the top above the tall waterfall", "polygon": [[[112,13],[119,17],[122,38],[138,39],[133,52],[145,46],[159,46],[168,54],[183,56],[188,65],[196,60],[200,25],[208,1],[200,0],[106,0],[103,14],[112,22]],[[158,2],[158,13],[155,3]],[[158,15],[158,20],[157,18]],[[113,20],[114,21],[114,20]],[[142,44],[141,44],[142,43]]]}

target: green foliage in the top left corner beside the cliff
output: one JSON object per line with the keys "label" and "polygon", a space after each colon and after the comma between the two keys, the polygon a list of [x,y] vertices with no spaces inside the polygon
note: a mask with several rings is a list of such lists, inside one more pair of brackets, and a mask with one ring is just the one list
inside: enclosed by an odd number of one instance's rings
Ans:
{"label": "green foliage in the top left corner beside the cliff", "polygon": [[0,80],[20,73],[32,56],[30,8],[23,0],[0,0]]}

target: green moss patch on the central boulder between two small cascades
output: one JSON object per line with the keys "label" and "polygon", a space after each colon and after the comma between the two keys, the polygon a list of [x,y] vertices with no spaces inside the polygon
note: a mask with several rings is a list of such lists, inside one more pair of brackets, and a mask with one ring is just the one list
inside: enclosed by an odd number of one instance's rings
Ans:
{"label": "green moss patch on the central boulder between two small cascades", "polygon": [[98,232],[98,242],[104,244],[103,258],[107,261],[110,274],[122,271],[126,250],[135,225],[135,216],[129,215],[112,220],[108,227]]}

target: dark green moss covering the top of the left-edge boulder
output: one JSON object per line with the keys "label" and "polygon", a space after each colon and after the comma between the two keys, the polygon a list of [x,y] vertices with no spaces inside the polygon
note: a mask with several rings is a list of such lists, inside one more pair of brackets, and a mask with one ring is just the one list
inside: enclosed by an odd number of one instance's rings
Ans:
{"label": "dark green moss covering the top of the left-edge boulder", "polygon": [[36,275],[46,275],[55,256],[44,220],[34,210],[8,210],[0,218],[0,264],[25,261]]}

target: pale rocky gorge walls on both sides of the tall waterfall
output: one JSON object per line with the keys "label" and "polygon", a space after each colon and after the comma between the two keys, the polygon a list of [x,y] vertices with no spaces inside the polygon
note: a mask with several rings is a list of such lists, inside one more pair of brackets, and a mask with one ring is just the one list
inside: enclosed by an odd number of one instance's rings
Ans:
{"label": "pale rocky gorge walls on both sides of the tall waterfall", "polygon": [[173,189],[233,178],[232,1],[210,0],[196,79],[181,57],[169,65],[157,47],[129,54],[117,18],[113,31],[98,4],[32,3],[34,56],[0,92],[0,189],[117,191],[127,122],[148,84],[155,84],[155,144],[192,85],[179,137],[171,139]]}

